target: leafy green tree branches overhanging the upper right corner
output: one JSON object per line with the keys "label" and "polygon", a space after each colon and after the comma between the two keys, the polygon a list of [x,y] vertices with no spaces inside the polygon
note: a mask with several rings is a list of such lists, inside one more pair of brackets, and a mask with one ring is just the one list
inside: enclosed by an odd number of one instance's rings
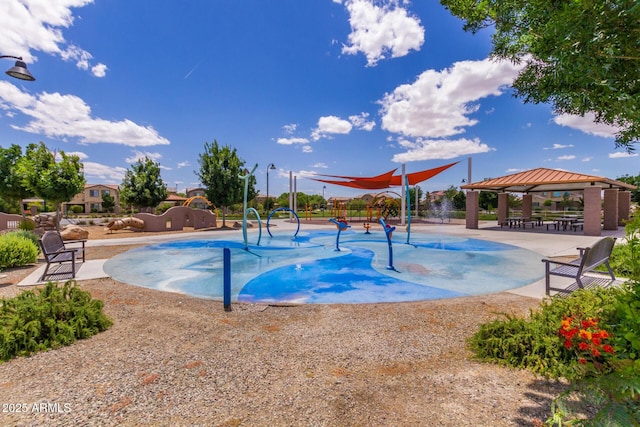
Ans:
{"label": "leafy green tree branches overhanging the upper right corner", "polygon": [[476,33],[493,27],[492,55],[524,68],[524,102],[617,126],[616,146],[640,138],[640,3],[633,0],[441,0]]}

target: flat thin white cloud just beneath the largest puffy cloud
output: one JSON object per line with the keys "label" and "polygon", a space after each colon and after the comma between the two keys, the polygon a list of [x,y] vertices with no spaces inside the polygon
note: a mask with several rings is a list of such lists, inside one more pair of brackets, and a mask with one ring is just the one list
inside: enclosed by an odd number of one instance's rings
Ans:
{"label": "flat thin white cloud just beneath the largest puffy cloud", "polygon": [[458,156],[487,153],[494,149],[479,139],[473,140],[461,138],[457,140],[422,140],[416,142],[407,140],[399,141],[400,145],[408,150],[393,156],[396,163],[415,162],[418,160],[453,159]]}

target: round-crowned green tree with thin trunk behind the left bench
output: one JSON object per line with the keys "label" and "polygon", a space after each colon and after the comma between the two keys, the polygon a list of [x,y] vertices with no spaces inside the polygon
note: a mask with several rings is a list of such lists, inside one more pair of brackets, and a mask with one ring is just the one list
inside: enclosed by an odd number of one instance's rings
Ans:
{"label": "round-crowned green tree with thin trunk behind the left bench", "polygon": [[68,156],[64,151],[56,154],[40,142],[27,146],[16,169],[25,188],[55,204],[56,228],[59,229],[60,205],[84,190],[84,171],[80,158]]}

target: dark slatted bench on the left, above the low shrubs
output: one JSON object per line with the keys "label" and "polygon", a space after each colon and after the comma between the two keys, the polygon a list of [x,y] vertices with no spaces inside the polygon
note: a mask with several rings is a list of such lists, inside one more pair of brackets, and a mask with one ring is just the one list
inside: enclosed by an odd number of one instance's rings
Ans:
{"label": "dark slatted bench on the left, above the low shrubs", "polygon": [[[50,276],[66,276],[66,279],[76,277],[76,261],[85,260],[86,240],[62,240],[62,236],[57,231],[46,231],[40,238],[40,249],[47,263],[40,281],[45,281]],[[75,246],[67,246],[68,244]],[[80,245],[80,246],[79,246]],[[57,264],[58,268],[49,272],[52,265]]]}

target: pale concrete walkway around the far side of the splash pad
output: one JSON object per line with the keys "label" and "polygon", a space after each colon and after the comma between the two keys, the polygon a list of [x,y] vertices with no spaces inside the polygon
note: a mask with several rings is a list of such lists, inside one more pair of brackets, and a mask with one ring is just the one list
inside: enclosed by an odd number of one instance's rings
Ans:
{"label": "pale concrete walkway around the far side of the splash pad", "polygon": [[[376,227],[380,227],[379,225],[375,225],[372,227],[372,231],[376,229]],[[280,233],[295,233],[297,228],[297,223],[290,223],[285,220],[276,220],[270,223],[270,230],[274,235],[278,235]],[[305,230],[317,230],[317,229],[326,229],[326,228],[335,228],[335,226],[328,221],[326,224],[324,222],[305,222],[304,220],[300,221],[300,232],[304,233]],[[401,227],[398,226],[398,229]],[[352,224],[352,231],[364,231],[364,228],[358,223]],[[469,230],[466,229],[462,224],[412,224],[411,225],[412,232],[424,232],[424,233],[441,233],[441,234],[450,234],[450,235],[458,235],[468,238],[474,239],[482,239],[495,241],[500,243],[505,243],[513,246],[517,246],[523,249],[528,249],[530,251],[536,252],[540,254],[540,259],[547,257],[556,257],[556,256],[578,256],[578,247],[590,246],[595,241],[599,240],[604,236],[612,236],[617,237],[619,240],[623,239],[624,228],[620,227],[617,231],[603,231],[602,236],[584,236],[579,233],[572,233],[571,231],[567,231],[566,233],[541,233],[529,230],[502,230],[499,227],[495,227],[495,221],[481,223],[477,230]],[[249,229],[248,241],[251,244],[255,242],[254,233],[257,233],[257,228]],[[262,237],[268,238],[268,233],[263,226],[262,229]],[[115,245],[130,245],[130,244],[155,244],[162,243],[172,240],[182,240],[189,238],[211,238],[211,239],[233,239],[242,241],[243,235],[241,229],[229,229],[229,230],[213,230],[213,231],[197,231],[190,233],[176,233],[176,234],[166,234],[166,235],[154,235],[154,236],[141,236],[141,237],[127,237],[122,239],[104,239],[104,240],[89,240],[87,242],[87,247],[100,247],[100,246],[115,246]],[[82,264],[78,272],[76,273],[76,280],[91,280],[97,278],[108,277],[108,275],[103,270],[103,265],[107,260],[91,260],[86,261]],[[44,272],[45,266],[41,266],[36,271],[34,271],[31,275],[26,277],[22,282],[18,284],[18,286],[33,286],[37,284],[41,284],[40,277]],[[540,269],[543,271],[544,264],[540,262]],[[64,277],[62,280],[66,280]],[[507,291],[513,294],[532,297],[532,298],[544,298],[545,296],[545,284],[544,279],[539,280],[535,283],[532,283],[528,286],[524,286],[521,288],[513,289]]]}

